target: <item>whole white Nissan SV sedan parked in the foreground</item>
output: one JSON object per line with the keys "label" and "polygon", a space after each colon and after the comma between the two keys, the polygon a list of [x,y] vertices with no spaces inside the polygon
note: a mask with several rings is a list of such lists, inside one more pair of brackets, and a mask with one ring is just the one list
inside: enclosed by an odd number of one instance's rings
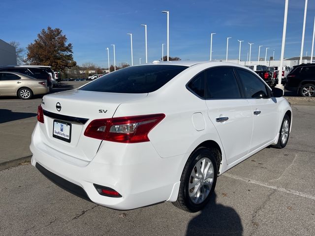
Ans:
{"label": "whole white Nissan SV sedan parked in the foreground", "polygon": [[270,145],[286,146],[292,109],[282,96],[233,63],[127,67],[43,97],[32,165],[105,207],[169,201],[195,212],[222,173]]}

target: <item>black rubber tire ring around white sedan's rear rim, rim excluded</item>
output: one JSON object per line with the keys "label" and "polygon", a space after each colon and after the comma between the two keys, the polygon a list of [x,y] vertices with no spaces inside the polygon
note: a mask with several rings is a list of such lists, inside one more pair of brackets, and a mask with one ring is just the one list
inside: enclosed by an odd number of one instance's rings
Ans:
{"label": "black rubber tire ring around white sedan's rear rim, rim excluded", "polygon": [[[201,158],[204,158],[204,157],[207,157],[211,160],[212,164],[213,164],[213,167],[214,167],[214,172],[215,172],[215,175],[214,175],[214,179],[213,179],[213,184],[212,184],[212,187],[210,189],[210,193],[209,195],[207,196],[207,198],[200,204],[194,204],[190,197],[189,197],[189,178],[190,178],[190,175],[191,175],[191,172],[192,172],[192,169],[194,168],[194,166],[196,165],[196,163],[201,159]],[[189,167],[187,169],[187,172],[186,172],[186,175],[185,175],[185,180],[184,180],[184,184],[183,184],[183,187],[184,187],[184,193],[185,193],[185,203],[186,203],[186,206],[189,208],[190,211],[192,212],[196,212],[196,211],[199,211],[201,210],[210,200],[210,197],[216,187],[216,183],[217,183],[217,177],[218,177],[218,167],[217,167],[217,160],[214,156],[214,152],[211,151],[210,149],[208,148],[198,148],[197,150],[195,150],[192,155],[191,155],[191,160],[190,163],[189,163]]]}

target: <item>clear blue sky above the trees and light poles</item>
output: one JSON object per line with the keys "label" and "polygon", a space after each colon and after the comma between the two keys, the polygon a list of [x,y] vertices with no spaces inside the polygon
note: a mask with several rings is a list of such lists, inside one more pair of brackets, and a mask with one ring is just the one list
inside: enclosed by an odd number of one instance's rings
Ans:
{"label": "clear blue sky above the trees and light poles", "polygon": [[[289,0],[286,33],[286,58],[299,56],[302,38],[304,0]],[[161,58],[161,44],[166,43],[166,14],[170,11],[170,56],[183,60],[209,60],[210,33],[213,59],[225,59],[226,37],[229,59],[245,60],[252,45],[252,60],[258,57],[258,46],[275,49],[280,58],[284,20],[284,0],[1,0],[0,39],[18,41],[22,47],[36,38],[41,29],[60,28],[73,45],[73,56],[79,65],[93,62],[107,67],[107,52],[113,64],[131,63],[130,36],[133,34],[134,64],[145,60],[144,28],[148,25],[148,61]],[[304,56],[311,54],[315,2],[309,0],[305,31]],[[164,51],[166,55],[166,48]]]}

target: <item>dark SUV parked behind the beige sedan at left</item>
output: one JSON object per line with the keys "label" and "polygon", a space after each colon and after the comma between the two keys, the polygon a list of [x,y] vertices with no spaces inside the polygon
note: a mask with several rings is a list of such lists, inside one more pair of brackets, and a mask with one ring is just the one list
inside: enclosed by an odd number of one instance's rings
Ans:
{"label": "dark SUV parked behind the beige sedan at left", "polygon": [[43,68],[38,67],[23,67],[23,66],[1,66],[0,71],[18,72],[29,75],[35,79],[47,80],[47,87],[52,88],[51,76]]}

